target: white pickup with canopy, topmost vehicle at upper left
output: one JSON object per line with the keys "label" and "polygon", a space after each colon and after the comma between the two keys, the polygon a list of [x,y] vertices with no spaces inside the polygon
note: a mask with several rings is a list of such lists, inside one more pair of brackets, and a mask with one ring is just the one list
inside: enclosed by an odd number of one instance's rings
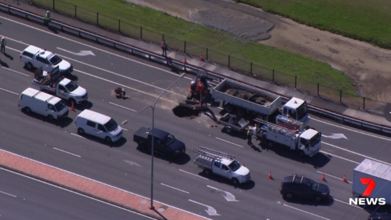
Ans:
{"label": "white pickup with canopy, topmost vehicle at upper left", "polygon": [[20,61],[23,61],[29,70],[42,67],[43,70],[50,72],[54,68],[59,67],[61,75],[73,71],[73,66],[54,54],[54,52],[32,45],[22,51]]}

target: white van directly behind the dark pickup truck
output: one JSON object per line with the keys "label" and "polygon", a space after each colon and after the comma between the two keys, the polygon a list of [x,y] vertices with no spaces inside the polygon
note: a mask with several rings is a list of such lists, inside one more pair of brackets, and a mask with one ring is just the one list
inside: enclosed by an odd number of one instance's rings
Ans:
{"label": "white van directly behind the dark pickup truck", "polygon": [[107,142],[118,141],[122,137],[122,128],[111,117],[91,110],[77,115],[75,128],[79,134],[90,134]]}

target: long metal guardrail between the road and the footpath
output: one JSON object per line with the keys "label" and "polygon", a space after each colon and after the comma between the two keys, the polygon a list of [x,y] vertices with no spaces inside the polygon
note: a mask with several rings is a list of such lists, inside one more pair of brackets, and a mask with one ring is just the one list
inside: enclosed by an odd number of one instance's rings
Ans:
{"label": "long metal guardrail between the road and the footpath", "polygon": [[[10,14],[17,14],[19,16],[25,17],[27,20],[38,20],[38,22],[42,22],[42,23],[44,22],[44,17],[43,16],[39,16],[37,14],[33,14],[33,13],[30,13],[30,12],[27,12],[27,11],[23,11],[23,10],[18,9],[16,7],[12,7],[10,5],[6,5],[6,4],[0,3],[0,10],[6,11],[6,12],[8,12]],[[161,62],[169,62],[172,65],[176,65],[176,66],[182,67],[185,70],[188,69],[188,70],[197,71],[197,70],[202,69],[203,71],[208,72],[208,76],[212,76],[213,78],[217,78],[220,81],[222,79],[225,79],[225,78],[237,81],[236,79],[233,79],[231,77],[222,76],[222,74],[219,74],[219,73],[216,73],[216,72],[212,72],[212,71],[200,68],[200,67],[195,67],[194,65],[191,65],[191,64],[188,64],[188,63],[184,63],[182,61],[178,61],[178,60],[171,59],[171,58],[166,58],[166,57],[160,56],[159,54],[156,54],[154,52],[150,52],[150,51],[147,51],[145,49],[141,49],[141,48],[138,48],[138,47],[135,47],[135,46],[132,46],[132,45],[127,45],[125,43],[121,43],[121,42],[118,42],[118,41],[115,41],[115,40],[112,40],[112,39],[109,39],[109,38],[106,38],[106,37],[103,37],[103,36],[99,36],[98,34],[95,34],[95,33],[89,32],[89,31],[84,31],[82,29],[79,29],[79,28],[76,28],[76,27],[72,27],[71,25],[67,25],[67,24],[64,24],[64,23],[61,23],[61,22],[57,22],[55,20],[51,20],[49,25],[52,26],[52,27],[55,27],[57,29],[60,29],[61,31],[68,31],[68,32],[71,32],[71,33],[72,32],[76,33],[80,37],[92,38],[92,39],[94,39],[95,41],[97,41],[99,43],[105,43],[105,44],[107,44],[109,46],[114,47],[115,49],[128,50],[131,53],[138,52],[140,54],[143,54],[143,55],[147,56],[149,59],[153,58],[155,60],[160,60]],[[242,82],[242,83],[244,83],[244,82]],[[245,84],[248,84],[248,83],[245,83]],[[255,85],[251,85],[251,86],[256,87]],[[257,88],[259,88],[259,87],[257,87]],[[283,97],[283,99],[285,101],[288,101],[287,97],[285,97],[285,96],[282,96],[282,97]],[[391,127],[388,127],[388,126],[384,126],[384,125],[380,125],[380,124],[374,124],[374,123],[369,123],[367,121],[363,121],[363,120],[356,119],[356,118],[353,118],[353,117],[340,115],[340,114],[334,113],[332,111],[325,110],[325,109],[322,109],[322,108],[319,108],[319,107],[313,106],[313,105],[308,105],[308,109],[310,110],[310,112],[312,112],[314,114],[323,115],[325,117],[331,118],[331,119],[333,119],[335,121],[339,121],[341,123],[352,123],[352,124],[359,125],[362,128],[369,128],[369,129],[372,129],[372,130],[378,130],[379,132],[386,133],[388,135],[391,134]]]}

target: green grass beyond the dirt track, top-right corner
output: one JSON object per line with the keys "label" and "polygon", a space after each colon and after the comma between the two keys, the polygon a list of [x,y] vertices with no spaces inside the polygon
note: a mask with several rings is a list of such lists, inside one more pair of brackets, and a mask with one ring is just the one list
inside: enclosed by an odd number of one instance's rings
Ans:
{"label": "green grass beyond the dirt track, top-right corner", "polygon": [[391,49],[390,0],[235,0],[348,38]]}

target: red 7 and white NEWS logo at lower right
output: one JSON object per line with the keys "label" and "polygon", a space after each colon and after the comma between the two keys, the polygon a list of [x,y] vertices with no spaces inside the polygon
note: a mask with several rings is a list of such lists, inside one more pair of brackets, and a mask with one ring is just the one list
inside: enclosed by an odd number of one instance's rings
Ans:
{"label": "red 7 and white NEWS logo at lower right", "polygon": [[[362,185],[367,185],[364,193],[362,193],[362,197],[369,197],[375,189],[376,183],[375,180],[372,178],[360,178],[360,181]],[[385,205],[386,199],[385,198],[349,198],[349,204],[355,204],[355,205]]]}

